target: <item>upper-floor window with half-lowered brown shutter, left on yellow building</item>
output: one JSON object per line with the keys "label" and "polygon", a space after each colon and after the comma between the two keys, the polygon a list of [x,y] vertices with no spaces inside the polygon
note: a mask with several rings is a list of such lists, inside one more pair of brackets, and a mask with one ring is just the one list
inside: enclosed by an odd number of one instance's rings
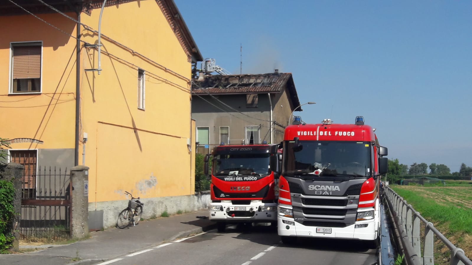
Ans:
{"label": "upper-floor window with half-lowered brown shutter, left on yellow building", "polygon": [[11,92],[41,92],[41,42],[12,43]]}

